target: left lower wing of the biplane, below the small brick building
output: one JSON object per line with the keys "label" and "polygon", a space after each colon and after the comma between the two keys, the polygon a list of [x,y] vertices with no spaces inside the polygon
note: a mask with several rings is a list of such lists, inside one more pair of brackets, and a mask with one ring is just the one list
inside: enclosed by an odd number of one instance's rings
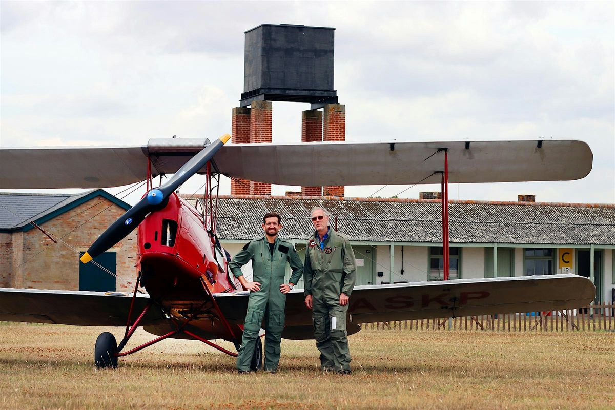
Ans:
{"label": "left lower wing of the biplane, below the small brick building", "polygon": [[[131,299],[121,293],[0,288],[0,320],[125,326]],[[137,295],[135,311],[143,310],[148,301],[148,296]],[[159,309],[149,309],[141,326],[161,320],[165,318]]]}

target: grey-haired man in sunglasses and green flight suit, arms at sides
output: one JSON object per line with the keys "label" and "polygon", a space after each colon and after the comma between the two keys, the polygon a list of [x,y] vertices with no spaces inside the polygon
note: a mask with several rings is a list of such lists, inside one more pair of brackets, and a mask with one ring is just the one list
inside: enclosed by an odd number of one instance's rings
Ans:
{"label": "grey-haired man in sunglasses and green flight suit, arms at sides", "polygon": [[346,312],[357,262],[346,235],[329,226],[327,210],[313,208],[311,217],[315,232],[308,239],[303,283],[305,304],[312,309],[320,368],[350,374]]}

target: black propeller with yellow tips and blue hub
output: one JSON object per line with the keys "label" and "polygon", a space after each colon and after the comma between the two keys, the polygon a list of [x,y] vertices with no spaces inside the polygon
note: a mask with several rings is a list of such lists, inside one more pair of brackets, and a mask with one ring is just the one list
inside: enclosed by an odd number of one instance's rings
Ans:
{"label": "black propeller with yellow tips and blue hub", "polygon": [[212,159],[229,138],[231,138],[230,135],[224,134],[220,139],[206,146],[202,151],[196,154],[196,156],[186,162],[167,183],[151,189],[137,205],[127,210],[124,215],[111,224],[111,226],[92,243],[92,246],[90,246],[87,252],[81,256],[81,262],[87,263],[93,258],[96,258],[101,253],[111,248],[111,246],[124,239],[126,235],[130,234],[130,232],[139,226],[139,224],[143,222],[143,219],[150,213],[164,208],[169,201],[169,195],[200,170],[200,168],[204,167],[207,161]]}

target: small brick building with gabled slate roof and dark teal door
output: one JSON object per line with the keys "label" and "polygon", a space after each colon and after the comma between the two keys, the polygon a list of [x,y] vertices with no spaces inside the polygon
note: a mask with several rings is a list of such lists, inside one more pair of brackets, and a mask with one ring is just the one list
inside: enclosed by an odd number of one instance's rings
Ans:
{"label": "small brick building with gabled slate roof and dark teal door", "polygon": [[0,192],[0,286],[132,291],[137,231],[94,259],[117,278],[79,262],[79,252],[129,208],[102,189],[75,195]]}

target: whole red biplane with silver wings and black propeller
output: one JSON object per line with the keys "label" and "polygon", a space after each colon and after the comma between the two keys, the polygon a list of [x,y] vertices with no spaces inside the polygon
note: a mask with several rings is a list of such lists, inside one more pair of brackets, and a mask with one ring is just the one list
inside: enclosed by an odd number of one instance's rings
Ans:
{"label": "whole red biplane with silver wings and black propeller", "polygon": [[[231,144],[158,139],[146,146],[0,149],[0,188],[121,186],[148,181],[148,191],[90,246],[88,262],[138,227],[138,278],[132,294],[0,288],[0,320],[81,326],[125,326],[119,345],[108,332],[95,345],[95,364],[116,367],[117,358],[167,337],[239,348],[248,292],[228,269],[228,253],[216,236],[220,175],[284,185],[363,185],[549,181],[583,178],[592,152],[580,141],[475,141],[437,143]],[[440,152],[443,155],[434,156]],[[262,160],[261,160],[262,159]],[[444,159],[444,160],[443,160]],[[263,166],[266,162],[266,166]],[[449,169],[450,168],[450,169]],[[207,176],[204,215],[177,194],[195,173]],[[159,187],[152,178],[174,174]],[[44,175],[44,178],[43,178]],[[448,243],[448,195],[443,200],[443,246]],[[256,223],[256,221],[255,221]],[[445,263],[445,267],[448,264]],[[146,293],[140,293],[139,286]],[[491,313],[574,309],[595,297],[595,286],[577,275],[485,278],[357,286],[347,320],[360,323],[449,318]],[[303,291],[287,295],[283,337],[312,338]],[[125,350],[139,326],[157,336]],[[253,368],[262,360],[257,344]]]}

